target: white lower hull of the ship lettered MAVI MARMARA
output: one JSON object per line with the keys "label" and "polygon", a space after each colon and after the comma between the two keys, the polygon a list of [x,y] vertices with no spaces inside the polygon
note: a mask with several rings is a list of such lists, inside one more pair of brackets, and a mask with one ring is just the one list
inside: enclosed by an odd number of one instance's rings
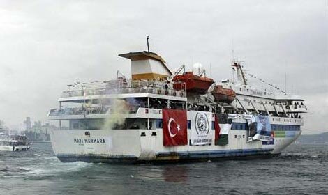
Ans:
{"label": "white lower hull of the ship lettered MAVI MARMARA", "polygon": [[[86,135],[85,132],[88,135]],[[52,148],[61,162],[186,162],[216,159],[268,157],[290,145],[298,132],[285,132],[274,144],[247,141],[247,131],[231,130],[225,146],[163,146],[163,130],[54,130]]]}

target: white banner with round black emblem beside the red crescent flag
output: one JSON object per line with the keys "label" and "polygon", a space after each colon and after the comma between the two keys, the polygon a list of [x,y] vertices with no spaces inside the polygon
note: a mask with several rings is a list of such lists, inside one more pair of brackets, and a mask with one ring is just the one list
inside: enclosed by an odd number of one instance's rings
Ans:
{"label": "white banner with round black emblem beside the red crescent flag", "polygon": [[191,119],[191,145],[210,145],[213,139],[211,112],[189,111],[188,114]]}

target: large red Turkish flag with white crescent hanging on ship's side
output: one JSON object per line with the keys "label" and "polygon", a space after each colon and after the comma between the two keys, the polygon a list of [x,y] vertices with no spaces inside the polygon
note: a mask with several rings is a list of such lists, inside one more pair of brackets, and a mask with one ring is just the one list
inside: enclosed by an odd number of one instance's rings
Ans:
{"label": "large red Turkish flag with white crescent hanging on ship's side", "polygon": [[188,144],[186,110],[163,109],[163,142],[164,146]]}

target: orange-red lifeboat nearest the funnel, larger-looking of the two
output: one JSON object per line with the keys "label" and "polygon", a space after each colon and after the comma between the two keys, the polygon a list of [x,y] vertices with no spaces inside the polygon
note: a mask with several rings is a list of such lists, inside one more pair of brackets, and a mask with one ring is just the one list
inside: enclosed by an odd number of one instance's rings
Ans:
{"label": "orange-red lifeboat nearest the funnel, larger-looking of the two", "polygon": [[193,72],[184,72],[182,75],[175,76],[172,81],[173,88],[176,90],[186,89],[187,92],[207,93],[207,89],[211,84],[214,83],[214,80],[208,77],[202,77],[194,75]]}

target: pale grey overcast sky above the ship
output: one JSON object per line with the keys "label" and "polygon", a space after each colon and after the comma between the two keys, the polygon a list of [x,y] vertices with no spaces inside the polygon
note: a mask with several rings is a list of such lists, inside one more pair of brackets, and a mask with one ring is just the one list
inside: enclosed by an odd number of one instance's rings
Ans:
{"label": "pale grey overcast sky above the ship", "polygon": [[[211,64],[230,78],[232,49],[246,70],[306,100],[304,133],[328,130],[328,3],[317,1],[0,1],[0,120],[19,127],[47,112],[75,81],[114,79],[118,54],[147,49],[171,70]],[[250,79],[250,82],[253,80]]]}

